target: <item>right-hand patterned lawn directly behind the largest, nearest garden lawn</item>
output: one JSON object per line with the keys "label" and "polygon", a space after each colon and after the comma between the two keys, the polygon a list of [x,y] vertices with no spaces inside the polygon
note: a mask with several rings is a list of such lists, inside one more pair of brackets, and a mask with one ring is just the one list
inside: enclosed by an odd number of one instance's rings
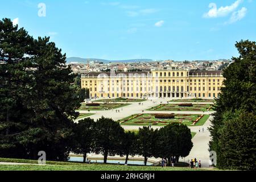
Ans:
{"label": "right-hand patterned lawn directly behind the largest, nearest garden lawn", "polygon": [[[207,111],[210,108],[210,104],[193,104],[191,107],[179,106],[179,104],[160,104],[155,107],[151,107],[150,111]],[[210,109],[210,111],[213,111]]]}

